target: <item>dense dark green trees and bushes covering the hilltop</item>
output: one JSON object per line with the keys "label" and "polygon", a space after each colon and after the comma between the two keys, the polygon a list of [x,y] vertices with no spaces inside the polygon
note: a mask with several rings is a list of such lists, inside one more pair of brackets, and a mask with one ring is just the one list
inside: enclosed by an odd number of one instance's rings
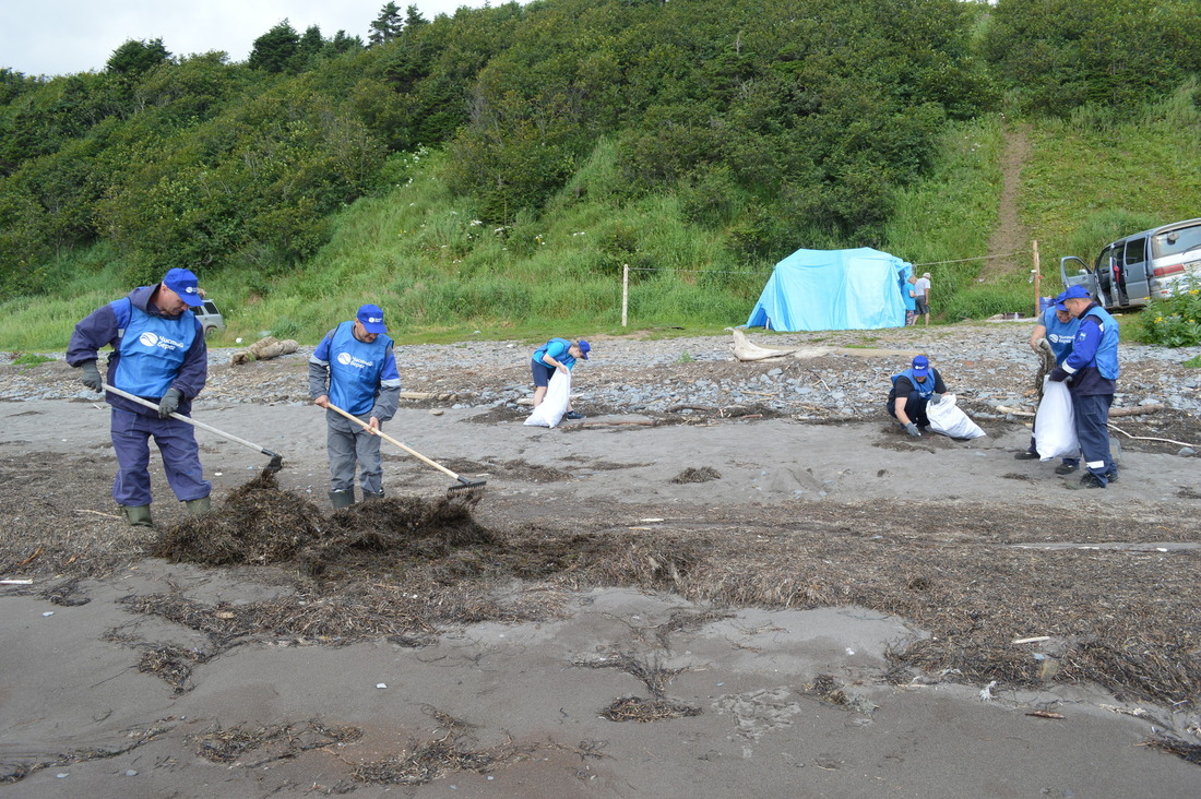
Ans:
{"label": "dense dark green trees and bushes covering the hilltop", "polygon": [[101,242],[132,282],[286,272],[420,147],[488,223],[538,214],[611,141],[622,191],[674,192],[748,255],[873,244],[949,121],[1122,113],[1201,74],[1196,0],[388,2],[370,31],[0,68],[0,298]]}

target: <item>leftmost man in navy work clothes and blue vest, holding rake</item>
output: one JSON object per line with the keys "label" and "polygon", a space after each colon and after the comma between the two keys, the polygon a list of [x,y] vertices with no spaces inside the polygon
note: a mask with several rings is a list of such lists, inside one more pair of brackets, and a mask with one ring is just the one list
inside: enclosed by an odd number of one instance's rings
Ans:
{"label": "leftmost man in navy work clothes and blue vest, holding rake", "polygon": [[[203,304],[196,275],[171,269],[162,282],[135,288],[103,305],[74,327],[67,363],[82,372],[83,383],[100,392],[103,382],[157,404],[157,411],[124,396],[107,394],[113,406],[112,439],[116,453],[113,499],[126,521],[151,526],[150,437],[162,454],[171,490],[187,503],[189,513],[209,509],[213,484],[204,479],[192,425],[171,418],[187,416],[192,399],[209,374],[204,330],[190,309]],[[97,366],[98,351],[112,346],[107,381]]]}

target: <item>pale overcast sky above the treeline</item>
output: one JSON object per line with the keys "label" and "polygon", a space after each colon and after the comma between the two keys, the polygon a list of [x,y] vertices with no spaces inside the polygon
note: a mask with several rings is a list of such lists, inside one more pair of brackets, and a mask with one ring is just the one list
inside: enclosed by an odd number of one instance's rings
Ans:
{"label": "pale overcast sky above the treeline", "polygon": [[[387,0],[0,0],[0,67],[28,76],[101,71],[126,40],[161,38],[173,55],[225,50],[245,61],[255,40],[287,19],[325,38],[339,30],[366,41]],[[393,0],[434,19],[485,0]],[[492,5],[500,5],[495,2]]]}

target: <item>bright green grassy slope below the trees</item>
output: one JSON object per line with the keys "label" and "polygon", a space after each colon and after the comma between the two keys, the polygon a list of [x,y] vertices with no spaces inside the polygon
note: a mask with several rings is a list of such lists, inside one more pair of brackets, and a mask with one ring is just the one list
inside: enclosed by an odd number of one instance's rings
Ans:
{"label": "bright green grassy slope below the trees", "polygon": [[[1107,240],[1201,214],[1201,111],[1193,87],[1145,118],[1077,114],[1035,121],[1021,172],[1018,215],[1038,239],[1044,293],[1057,291],[1058,257],[1092,257]],[[1027,245],[1016,268],[980,282],[997,225],[1005,129],[997,119],[948,130],[931,174],[896,201],[883,248],[926,267],[942,287],[936,322],[1026,311]],[[615,148],[602,141],[540,220],[480,223],[447,190],[443,154],[392,156],[392,187],[342,209],[331,240],[301,269],[219,273],[203,280],[219,299],[232,346],[270,332],[316,342],[358,304],[378,302],[401,341],[539,339],[550,333],[621,332],[621,268],[638,269],[629,327],[718,330],[741,324],[773,258],[737,255],[736,231],[688,221],[687,198],[663,192],[623,199]],[[787,252],[776,254],[783,257]],[[53,351],[74,322],[123,296],[107,245],[68,251],[53,266],[59,291],[0,305],[0,348]]]}

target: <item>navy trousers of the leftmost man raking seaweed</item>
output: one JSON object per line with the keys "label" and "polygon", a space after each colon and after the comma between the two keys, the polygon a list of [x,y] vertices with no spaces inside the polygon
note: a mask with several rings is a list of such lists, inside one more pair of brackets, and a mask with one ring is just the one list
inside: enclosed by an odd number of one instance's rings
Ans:
{"label": "navy trousers of the leftmost man raking seaweed", "polygon": [[213,483],[204,479],[192,425],[114,407],[112,435],[118,465],[113,499],[118,505],[150,505],[151,437],[162,454],[167,483],[180,502],[199,500],[213,491]]}

